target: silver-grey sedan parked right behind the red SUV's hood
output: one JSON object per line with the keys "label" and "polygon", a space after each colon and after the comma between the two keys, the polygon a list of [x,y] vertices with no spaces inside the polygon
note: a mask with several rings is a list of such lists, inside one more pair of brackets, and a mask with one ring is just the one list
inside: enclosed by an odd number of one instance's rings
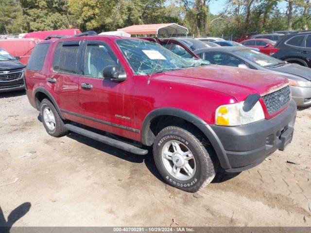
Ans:
{"label": "silver-grey sedan parked right behind the red SUV's hood", "polygon": [[311,68],[283,62],[264,53],[242,47],[215,47],[194,53],[211,64],[257,69],[282,75],[291,83],[297,106],[311,105]]}

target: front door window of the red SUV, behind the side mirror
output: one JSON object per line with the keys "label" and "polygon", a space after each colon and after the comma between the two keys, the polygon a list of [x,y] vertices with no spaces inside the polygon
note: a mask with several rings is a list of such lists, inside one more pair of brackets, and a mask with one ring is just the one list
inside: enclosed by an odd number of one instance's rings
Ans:
{"label": "front door window of the red SUV, behind the side mirror", "polygon": [[101,44],[89,44],[86,46],[85,74],[92,77],[103,78],[104,67],[118,66],[117,58],[111,50]]}

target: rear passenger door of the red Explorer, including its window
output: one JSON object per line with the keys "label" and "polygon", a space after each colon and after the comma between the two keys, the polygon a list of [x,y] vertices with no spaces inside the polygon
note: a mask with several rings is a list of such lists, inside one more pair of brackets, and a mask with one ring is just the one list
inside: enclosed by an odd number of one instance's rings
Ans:
{"label": "rear passenger door of the red Explorer, including its window", "polygon": [[81,41],[64,41],[57,44],[53,55],[51,84],[54,85],[56,102],[62,114],[75,122],[81,123],[78,96],[78,62],[81,57]]}

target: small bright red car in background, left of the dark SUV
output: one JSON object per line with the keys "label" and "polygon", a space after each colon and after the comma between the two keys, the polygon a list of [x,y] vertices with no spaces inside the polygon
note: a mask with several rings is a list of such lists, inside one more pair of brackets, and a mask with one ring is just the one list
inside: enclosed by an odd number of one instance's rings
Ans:
{"label": "small bright red car in background, left of the dark SUV", "polygon": [[265,53],[270,56],[275,54],[278,51],[278,49],[274,47],[276,42],[273,40],[269,40],[269,39],[243,40],[241,44],[246,47],[258,48],[260,52]]}

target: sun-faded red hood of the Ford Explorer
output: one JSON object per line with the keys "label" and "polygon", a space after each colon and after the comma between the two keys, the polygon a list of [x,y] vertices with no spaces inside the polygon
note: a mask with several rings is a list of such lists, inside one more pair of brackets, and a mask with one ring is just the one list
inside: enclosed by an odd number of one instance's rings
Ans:
{"label": "sun-faded red hood of the Ford Explorer", "polygon": [[200,86],[225,93],[243,101],[249,94],[260,96],[286,86],[283,76],[245,68],[210,65],[157,74],[156,79]]}

